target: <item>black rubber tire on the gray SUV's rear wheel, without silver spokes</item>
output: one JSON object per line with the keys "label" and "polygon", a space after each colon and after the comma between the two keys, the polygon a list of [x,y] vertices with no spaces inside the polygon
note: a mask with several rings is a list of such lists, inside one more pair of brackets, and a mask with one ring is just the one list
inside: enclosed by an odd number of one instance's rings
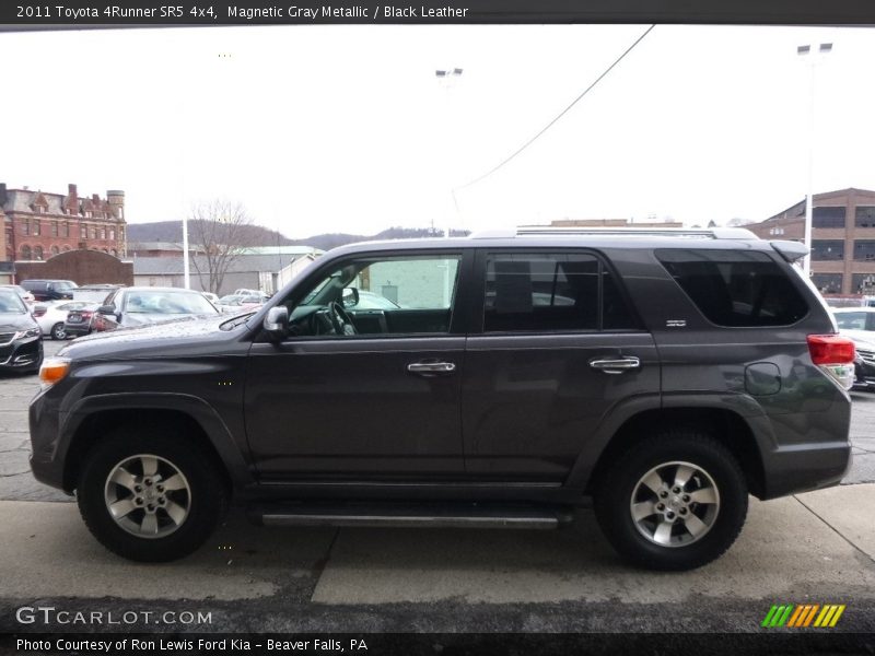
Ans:
{"label": "black rubber tire on the gray SUV's rear wheel, without silver spokes", "polygon": [[[643,483],[644,477],[654,471],[657,479],[672,480],[672,467],[678,472],[681,467],[678,462],[699,468],[690,477],[688,488],[678,488],[680,493],[674,493],[675,481],[666,483],[672,489],[661,488],[658,493]],[[684,467],[689,471],[686,465]],[[716,490],[716,495],[713,491],[701,491],[702,495],[716,496],[716,504],[693,501],[688,505],[682,501],[689,502],[689,494],[700,492],[700,485]],[[666,499],[660,496],[663,493],[667,494]],[[635,520],[633,502],[663,508],[660,514],[642,515]],[[679,516],[681,511],[686,519]],[[608,541],[629,562],[652,570],[692,570],[719,558],[738,537],[747,516],[747,482],[735,457],[709,434],[697,430],[667,430],[635,444],[599,477],[595,512]],[[670,519],[669,515],[673,515]],[[692,529],[687,528],[687,519]],[[668,537],[663,534],[661,539],[675,546],[656,543],[660,523],[673,522],[679,526],[672,527]],[[701,531],[698,537],[693,529]],[[653,534],[646,537],[644,534],[650,535],[651,530]]]}

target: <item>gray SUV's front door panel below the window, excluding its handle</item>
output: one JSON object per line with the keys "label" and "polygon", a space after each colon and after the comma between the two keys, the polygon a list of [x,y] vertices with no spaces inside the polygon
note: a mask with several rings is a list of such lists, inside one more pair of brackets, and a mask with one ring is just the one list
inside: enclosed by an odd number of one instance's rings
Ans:
{"label": "gray SUV's front door panel below the window, excluding its handle", "polygon": [[[457,478],[464,344],[460,336],[253,344],[246,431],[260,473]],[[455,371],[408,372],[420,362]]]}

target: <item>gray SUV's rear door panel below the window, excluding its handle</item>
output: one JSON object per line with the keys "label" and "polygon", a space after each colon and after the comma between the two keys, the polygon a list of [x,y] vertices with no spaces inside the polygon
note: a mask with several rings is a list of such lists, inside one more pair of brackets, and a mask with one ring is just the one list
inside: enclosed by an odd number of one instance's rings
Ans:
{"label": "gray SUV's rear door panel below the window, excluding its handle", "polygon": [[[591,366],[631,356],[619,374]],[[480,477],[563,480],[614,403],[660,388],[649,333],[476,336],[465,367],[466,468]]]}

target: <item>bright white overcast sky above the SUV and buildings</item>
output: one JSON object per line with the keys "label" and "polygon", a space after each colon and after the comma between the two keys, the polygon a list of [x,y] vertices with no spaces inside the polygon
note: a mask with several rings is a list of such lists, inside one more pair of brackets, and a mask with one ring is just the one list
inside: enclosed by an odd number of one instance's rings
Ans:
{"label": "bright white overcast sky above the SUV and buildings", "polygon": [[[241,201],[290,237],[552,219],[763,220],[875,189],[875,30],[641,25],[0,33],[0,181],[124,189],[129,222]],[[464,73],[451,87],[435,69]],[[457,188],[458,210],[450,189]]]}

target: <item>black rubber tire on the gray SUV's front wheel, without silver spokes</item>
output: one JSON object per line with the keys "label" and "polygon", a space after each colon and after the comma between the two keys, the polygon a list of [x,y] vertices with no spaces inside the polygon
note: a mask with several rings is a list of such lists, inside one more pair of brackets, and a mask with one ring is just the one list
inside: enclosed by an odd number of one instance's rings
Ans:
{"label": "black rubber tire on the gray SUV's front wheel, without silver spokes", "polygon": [[[116,431],[89,450],[80,470],[77,500],[85,525],[109,551],[133,561],[166,562],[188,555],[210,537],[228,508],[229,491],[213,458],[202,453],[200,447],[185,441],[182,435],[170,436],[167,433],[166,429],[154,432]],[[185,518],[177,525],[172,520],[171,514],[163,508],[153,509],[152,513],[156,518],[155,522],[163,523],[160,530],[172,531],[168,535],[153,537],[132,535],[113,518],[108,509],[107,497],[110,494],[118,491],[126,494],[122,485],[114,485],[110,492],[107,480],[120,464],[127,462],[126,471],[130,470],[131,473],[139,471],[140,479],[147,478],[142,476],[145,467],[138,469],[137,464],[141,460],[136,456],[140,455],[155,456],[160,461],[159,475],[150,481],[150,485],[161,481],[162,471],[163,476],[166,476],[172,473],[174,468],[185,480],[184,490],[164,493],[167,497],[175,495],[175,506],[184,506],[187,509]],[[142,488],[140,485],[140,489]],[[133,492],[130,492],[130,499],[133,501]],[[136,525],[139,517],[145,517],[145,509],[140,505],[127,516],[130,523]]]}

